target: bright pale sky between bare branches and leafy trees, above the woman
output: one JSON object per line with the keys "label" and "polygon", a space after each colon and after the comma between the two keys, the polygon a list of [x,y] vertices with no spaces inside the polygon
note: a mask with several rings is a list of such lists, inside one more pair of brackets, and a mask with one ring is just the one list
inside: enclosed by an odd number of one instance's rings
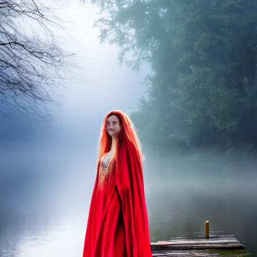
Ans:
{"label": "bright pale sky between bare branches and leafy trees, above the woman", "polygon": [[[138,100],[146,95],[143,82],[149,72],[147,65],[136,73],[117,64],[117,48],[98,42],[98,29],[92,27],[98,17],[96,13],[96,7],[78,1],[73,1],[59,13],[67,22],[70,37],[58,40],[65,50],[76,52],[81,66],[76,82],[70,82],[66,88],[66,111],[60,116],[60,122],[76,127],[88,124],[88,120],[99,122],[112,109],[129,113],[129,108],[135,108]],[[57,31],[60,37],[62,33]],[[95,125],[100,127],[101,124]],[[91,123],[91,126],[94,125]]]}

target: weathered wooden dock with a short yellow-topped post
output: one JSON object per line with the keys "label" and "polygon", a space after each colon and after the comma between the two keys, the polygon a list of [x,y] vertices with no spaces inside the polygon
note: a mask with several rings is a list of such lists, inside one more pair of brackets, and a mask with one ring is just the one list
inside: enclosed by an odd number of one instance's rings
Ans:
{"label": "weathered wooden dock with a short yellow-topped post", "polygon": [[[208,228],[207,228],[208,229]],[[248,257],[245,246],[233,235],[205,230],[193,237],[175,237],[168,241],[151,243],[152,253],[159,257],[226,256]]]}

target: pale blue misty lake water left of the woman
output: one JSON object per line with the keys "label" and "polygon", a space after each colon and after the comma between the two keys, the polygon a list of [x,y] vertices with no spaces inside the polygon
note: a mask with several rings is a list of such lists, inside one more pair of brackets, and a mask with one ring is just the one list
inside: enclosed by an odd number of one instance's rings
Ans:
{"label": "pale blue misty lake water left of the woman", "polygon": [[85,232],[95,153],[23,151],[1,174],[0,255],[71,256],[83,247],[76,233]]}

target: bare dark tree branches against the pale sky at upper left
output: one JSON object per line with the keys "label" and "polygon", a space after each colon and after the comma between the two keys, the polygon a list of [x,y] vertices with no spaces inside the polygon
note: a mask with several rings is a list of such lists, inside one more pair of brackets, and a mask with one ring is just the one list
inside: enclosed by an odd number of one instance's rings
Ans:
{"label": "bare dark tree branches against the pale sky at upper left", "polygon": [[[0,111],[18,110],[42,123],[57,103],[71,55],[57,45],[54,9],[38,0],[0,0]],[[52,92],[50,92],[52,91]],[[45,123],[45,122],[44,122]]]}

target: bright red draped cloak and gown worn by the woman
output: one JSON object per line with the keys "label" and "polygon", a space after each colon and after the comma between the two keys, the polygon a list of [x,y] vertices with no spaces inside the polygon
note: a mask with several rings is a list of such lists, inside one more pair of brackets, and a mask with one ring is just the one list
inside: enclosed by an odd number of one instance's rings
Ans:
{"label": "bright red draped cloak and gown worn by the woman", "polygon": [[118,156],[101,188],[98,164],[83,257],[152,257],[140,156],[130,141]]}

